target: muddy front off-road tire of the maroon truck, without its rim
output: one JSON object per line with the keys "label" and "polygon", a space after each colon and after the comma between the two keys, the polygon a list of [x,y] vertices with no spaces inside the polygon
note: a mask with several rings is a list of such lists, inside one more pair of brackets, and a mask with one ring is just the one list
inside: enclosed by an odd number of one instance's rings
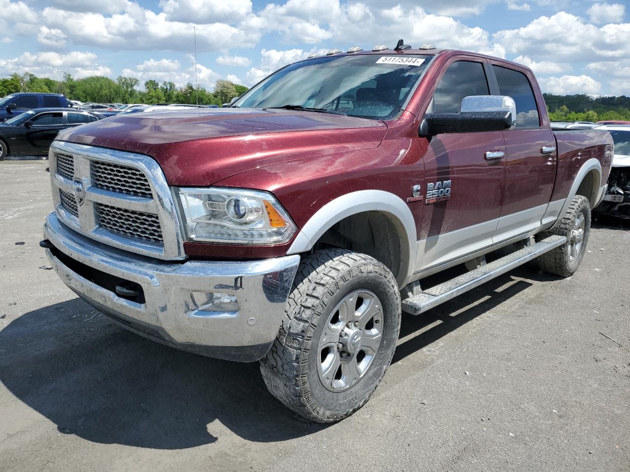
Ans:
{"label": "muddy front off-road tire of the maroon truck, without its rim", "polygon": [[[381,301],[382,340],[365,376],[349,390],[327,390],[318,373],[318,343],[333,308],[357,289],[369,289]],[[369,400],[396,349],[401,302],[398,284],[373,257],[328,249],[304,257],[285,306],[271,350],[260,361],[269,391],[294,412],[320,423],[341,420]]]}

